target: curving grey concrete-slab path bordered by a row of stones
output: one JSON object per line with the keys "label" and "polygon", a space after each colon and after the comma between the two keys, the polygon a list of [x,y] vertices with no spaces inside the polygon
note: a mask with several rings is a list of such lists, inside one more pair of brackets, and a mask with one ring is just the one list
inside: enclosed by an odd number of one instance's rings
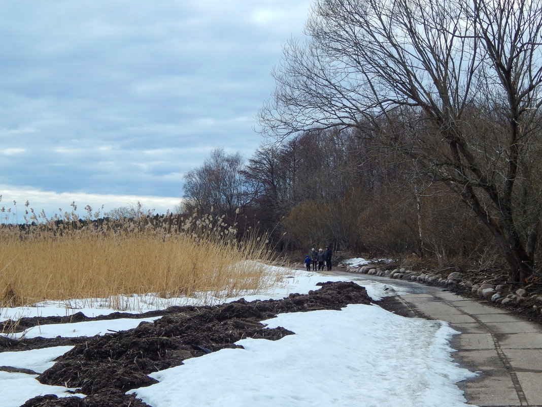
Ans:
{"label": "curving grey concrete-slab path bordered by a row of stones", "polygon": [[459,383],[469,404],[542,407],[542,326],[442,288],[385,277],[348,276],[352,281],[399,286],[408,292],[399,295],[399,300],[415,314],[448,321],[461,332],[451,344],[457,349],[453,357],[470,371],[481,372]]}

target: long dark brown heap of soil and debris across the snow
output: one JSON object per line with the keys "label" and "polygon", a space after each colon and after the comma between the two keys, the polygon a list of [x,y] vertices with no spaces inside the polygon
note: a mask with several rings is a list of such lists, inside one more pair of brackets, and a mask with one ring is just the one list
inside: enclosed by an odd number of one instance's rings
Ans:
{"label": "long dark brown heap of soil and debris across the snow", "polygon": [[[241,299],[221,306],[171,307],[159,320],[104,336],[4,340],[0,341],[0,351],[76,344],[38,380],[43,384],[74,387],[87,397],[39,396],[28,400],[24,407],[141,407],[146,404],[125,392],[156,383],[147,376],[151,372],[182,365],[183,360],[205,353],[240,347],[235,342],[243,338],[277,340],[294,334],[282,327],[266,328],[260,323],[262,320],[280,313],[339,310],[347,304],[371,302],[365,288],[352,282],[318,285],[321,285],[319,290],[306,295],[291,294],[283,300]],[[26,327],[28,320],[24,321]]]}

